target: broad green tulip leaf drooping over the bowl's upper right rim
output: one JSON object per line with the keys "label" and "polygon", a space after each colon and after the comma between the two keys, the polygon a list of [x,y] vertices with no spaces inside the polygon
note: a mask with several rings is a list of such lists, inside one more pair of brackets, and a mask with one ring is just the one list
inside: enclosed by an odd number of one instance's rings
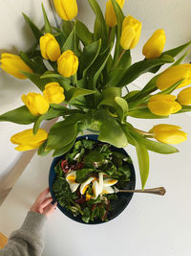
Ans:
{"label": "broad green tulip leaf drooping over the bowl's upper right rim", "polygon": [[98,140],[110,143],[117,148],[127,146],[127,138],[117,120],[110,116],[106,110],[96,112],[96,119],[100,123]]}

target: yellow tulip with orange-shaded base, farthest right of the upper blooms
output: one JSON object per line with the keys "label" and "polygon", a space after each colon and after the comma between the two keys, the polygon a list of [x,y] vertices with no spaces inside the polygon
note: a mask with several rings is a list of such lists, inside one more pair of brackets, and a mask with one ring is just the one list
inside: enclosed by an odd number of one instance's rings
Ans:
{"label": "yellow tulip with orange-shaded base, farthest right of the upper blooms", "polygon": [[142,48],[142,54],[145,58],[159,58],[166,41],[166,36],[163,30],[157,30],[148,39]]}

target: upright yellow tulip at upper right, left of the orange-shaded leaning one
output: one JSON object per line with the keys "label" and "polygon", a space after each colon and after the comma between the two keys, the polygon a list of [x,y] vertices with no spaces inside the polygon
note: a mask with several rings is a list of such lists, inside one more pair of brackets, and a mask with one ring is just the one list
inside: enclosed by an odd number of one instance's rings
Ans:
{"label": "upright yellow tulip at upper right, left of the orange-shaded leaning one", "polygon": [[133,49],[138,44],[142,24],[131,15],[124,18],[122,23],[122,33],[120,36],[120,46],[124,50]]}

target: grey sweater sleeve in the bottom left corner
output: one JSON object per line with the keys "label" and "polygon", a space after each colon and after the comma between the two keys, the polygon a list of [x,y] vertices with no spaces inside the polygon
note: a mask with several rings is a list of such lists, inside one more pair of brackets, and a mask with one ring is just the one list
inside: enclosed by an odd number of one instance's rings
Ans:
{"label": "grey sweater sleeve in the bottom left corner", "polygon": [[0,256],[39,256],[44,248],[44,224],[47,218],[29,212],[22,226],[11,233],[8,244]]}

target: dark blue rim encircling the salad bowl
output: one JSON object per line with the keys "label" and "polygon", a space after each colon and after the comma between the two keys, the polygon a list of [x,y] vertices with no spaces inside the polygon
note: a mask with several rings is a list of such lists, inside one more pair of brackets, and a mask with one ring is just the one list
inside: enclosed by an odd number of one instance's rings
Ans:
{"label": "dark blue rim encircling the salad bowl", "polygon": [[[75,139],[75,142],[76,141],[79,141],[79,140],[82,140],[82,139],[89,139],[89,140],[94,140],[94,141],[98,141],[98,135],[96,134],[86,134],[86,135],[81,135],[81,136],[78,136],[76,139]],[[74,143],[75,143],[74,142]],[[103,143],[103,144],[108,144],[106,142],[102,142],[100,141],[100,143]],[[111,146],[111,148],[115,151],[120,151],[122,152],[123,154],[129,156],[131,158],[131,156],[127,153],[127,151],[125,151],[123,148],[117,148],[115,146]],[[73,148],[72,148],[73,149]],[[71,150],[72,150],[71,149]],[[51,193],[51,196],[53,198],[53,202],[56,201],[56,198],[54,196],[54,193],[53,193],[53,181],[55,179],[55,172],[54,172],[54,166],[64,157],[66,153],[60,155],[60,156],[56,156],[53,158],[53,162],[51,164],[51,167],[50,167],[50,172],[49,172],[49,188],[50,188],[50,193]],[[132,179],[130,180],[131,181],[131,189],[135,189],[136,187],[136,173],[135,173],[135,168],[134,168],[134,165],[133,163],[132,164],[129,164],[130,166],[130,170],[131,170],[131,177]],[[118,197],[119,195],[121,195],[120,193],[117,194]],[[68,211],[65,207],[61,206],[58,202],[57,202],[57,208],[65,215],[67,216],[69,219],[73,220],[73,221],[77,221],[79,223],[82,223],[82,224],[101,224],[101,223],[107,223],[109,221],[112,221],[114,220],[115,218],[117,218],[117,216],[128,206],[129,202],[131,201],[134,193],[125,193],[125,194],[122,194],[123,195],[123,200],[125,199],[126,201],[123,202],[123,206],[117,211],[117,214],[115,214],[113,217],[111,217],[108,221],[100,221],[100,220],[96,220],[96,221],[89,221],[88,223],[84,222],[81,220],[81,216],[78,215],[76,217],[74,217],[74,215]],[[128,197],[125,197],[125,195],[128,195]],[[117,199],[118,200],[118,199]],[[119,198],[119,200],[121,200],[121,198]],[[79,218],[80,217],[80,218]]]}

